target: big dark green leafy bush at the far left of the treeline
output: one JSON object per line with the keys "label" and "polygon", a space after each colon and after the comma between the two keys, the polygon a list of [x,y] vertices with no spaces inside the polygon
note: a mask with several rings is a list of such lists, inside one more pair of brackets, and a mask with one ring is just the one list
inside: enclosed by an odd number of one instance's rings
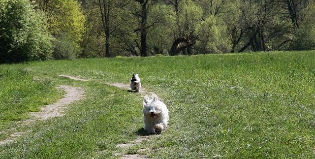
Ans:
{"label": "big dark green leafy bush at the far left of the treeline", "polygon": [[47,60],[53,39],[46,20],[27,0],[0,3],[0,63]]}

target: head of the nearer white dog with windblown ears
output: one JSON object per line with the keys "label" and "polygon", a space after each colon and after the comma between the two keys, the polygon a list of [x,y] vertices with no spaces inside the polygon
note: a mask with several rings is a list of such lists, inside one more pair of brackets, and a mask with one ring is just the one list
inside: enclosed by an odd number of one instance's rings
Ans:
{"label": "head of the nearer white dog with windblown ears", "polygon": [[152,94],[151,97],[145,96],[143,99],[143,114],[149,118],[156,118],[162,112],[162,108],[157,103],[158,96]]}

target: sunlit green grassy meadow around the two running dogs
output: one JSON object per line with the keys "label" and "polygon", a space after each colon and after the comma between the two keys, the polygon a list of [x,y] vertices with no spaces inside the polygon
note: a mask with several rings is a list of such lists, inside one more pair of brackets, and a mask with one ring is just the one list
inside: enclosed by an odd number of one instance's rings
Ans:
{"label": "sunlit green grassy meadow around the two running dogs", "polygon": [[[0,158],[109,158],[141,148],[151,149],[141,153],[149,158],[315,158],[315,51],[79,59],[0,68],[0,82],[7,79],[1,88],[13,87],[15,81],[4,74],[17,68],[30,70],[20,69],[17,82],[31,81],[27,87],[32,88],[0,90],[4,123],[24,120],[26,112],[60,97],[53,86],[86,91],[65,116],[36,122],[16,142],[0,146]],[[144,88],[163,98],[170,121],[161,135],[120,150],[115,144],[132,141],[143,128],[142,96],[105,83],[128,84],[133,72]],[[20,109],[16,103],[31,106]],[[6,108],[11,105],[15,108]]]}

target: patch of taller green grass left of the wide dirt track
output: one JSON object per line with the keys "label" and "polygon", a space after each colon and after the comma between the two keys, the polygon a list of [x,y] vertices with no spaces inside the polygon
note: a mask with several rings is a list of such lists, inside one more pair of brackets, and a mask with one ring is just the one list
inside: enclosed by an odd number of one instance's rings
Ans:
{"label": "patch of taller green grass left of the wide dirt track", "polygon": [[7,137],[8,127],[60,96],[50,81],[33,80],[26,70],[0,69],[0,139]]}

